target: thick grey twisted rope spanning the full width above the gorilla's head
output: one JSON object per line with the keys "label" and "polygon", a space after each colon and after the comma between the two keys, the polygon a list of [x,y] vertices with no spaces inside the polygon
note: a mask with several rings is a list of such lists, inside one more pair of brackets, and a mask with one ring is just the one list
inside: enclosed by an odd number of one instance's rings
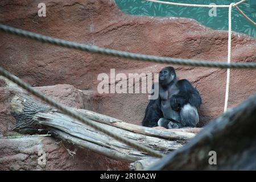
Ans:
{"label": "thick grey twisted rope spanning the full width above the gorilla's head", "polygon": [[0,31],[8,32],[9,34],[23,36],[25,38],[38,40],[39,42],[49,43],[56,46],[61,46],[65,48],[76,49],[85,52],[98,53],[101,55],[122,57],[131,60],[141,60],[150,61],[155,63],[168,63],[195,67],[210,67],[210,68],[256,68],[256,63],[221,63],[217,61],[199,61],[199,60],[189,60],[189,59],[178,59],[173,57],[161,57],[161,56],[150,56],[142,55],[138,53],[130,53],[125,51],[117,51],[114,49],[100,48],[97,46],[89,46],[86,44],[69,42],[67,40],[56,39],[49,36],[44,36],[41,34],[36,34],[34,32],[20,30],[19,28],[13,28],[0,24]]}

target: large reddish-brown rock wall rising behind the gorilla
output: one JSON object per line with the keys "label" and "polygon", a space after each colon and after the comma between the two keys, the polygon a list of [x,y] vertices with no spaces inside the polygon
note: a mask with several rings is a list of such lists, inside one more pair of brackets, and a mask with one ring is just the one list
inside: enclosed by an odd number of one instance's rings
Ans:
{"label": "large reddish-brown rock wall rising behind the gorilla", "polygon": [[[203,27],[195,20],[130,16],[112,0],[46,0],[46,17],[37,15],[39,1],[1,1],[0,22],[79,43],[148,55],[226,61],[228,32]],[[256,39],[232,34],[232,62],[256,60]],[[18,36],[0,34],[0,66],[32,86],[70,84],[70,100],[57,94],[63,104],[89,108],[139,125],[147,94],[98,94],[99,73],[158,73],[165,65],[94,55],[42,44]],[[175,66],[177,76],[192,82],[201,93],[200,125],[224,109],[226,70]],[[236,106],[256,90],[256,70],[232,69],[229,107]],[[0,82],[1,84],[1,82]],[[65,90],[67,85],[61,85]],[[54,87],[54,86],[53,86]],[[77,91],[75,88],[81,90]],[[47,88],[48,90],[49,88]],[[49,92],[46,90],[46,94]],[[51,89],[49,89],[51,90]],[[14,122],[5,92],[0,89],[0,135],[11,134]],[[62,92],[62,91],[61,91]],[[54,94],[50,94],[57,98]],[[75,102],[74,102],[75,101]],[[2,132],[2,133],[1,133]]]}

